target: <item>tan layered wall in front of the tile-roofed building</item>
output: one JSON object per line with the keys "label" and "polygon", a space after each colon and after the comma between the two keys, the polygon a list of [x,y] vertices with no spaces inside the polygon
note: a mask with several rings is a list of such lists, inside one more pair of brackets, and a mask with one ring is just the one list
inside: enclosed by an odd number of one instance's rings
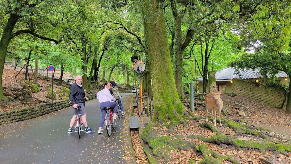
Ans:
{"label": "tan layered wall in front of the tile-roofed building", "polygon": [[251,98],[276,108],[286,106],[287,93],[281,87],[268,87],[250,81],[233,79],[231,89],[237,96]]}

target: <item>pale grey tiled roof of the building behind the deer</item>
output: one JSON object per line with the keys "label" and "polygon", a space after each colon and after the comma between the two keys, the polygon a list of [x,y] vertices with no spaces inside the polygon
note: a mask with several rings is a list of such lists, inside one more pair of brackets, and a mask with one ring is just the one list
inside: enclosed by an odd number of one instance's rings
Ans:
{"label": "pale grey tiled roof of the building behind the deer", "polygon": [[[226,68],[222,68],[221,70],[218,70],[215,74],[215,79],[216,81],[231,81],[233,80],[233,78],[239,78],[239,75],[234,74],[235,69],[234,68],[230,68],[230,67],[226,67]],[[240,70],[239,71],[240,74],[242,75],[242,79],[256,79],[256,78],[261,78],[260,74],[259,74],[259,70],[255,69],[255,70]],[[285,72],[280,71],[279,73],[277,73],[276,77],[288,77],[287,74]],[[208,75],[207,75],[207,80],[208,80]],[[198,82],[202,82],[203,78],[202,77],[198,77],[197,78]]]}

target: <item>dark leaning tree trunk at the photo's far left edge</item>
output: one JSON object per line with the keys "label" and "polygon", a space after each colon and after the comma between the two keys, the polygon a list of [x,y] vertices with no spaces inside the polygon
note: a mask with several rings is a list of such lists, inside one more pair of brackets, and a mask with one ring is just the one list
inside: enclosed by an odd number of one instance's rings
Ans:
{"label": "dark leaning tree trunk at the photo's far left edge", "polygon": [[11,33],[12,30],[18,21],[19,17],[17,14],[11,14],[8,22],[2,31],[2,37],[0,40],[0,100],[8,101],[8,98],[3,95],[3,90],[2,90],[2,75],[3,75],[3,70],[4,70],[4,64],[5,64],[5,57],[6,57],[6,52],[7,52],[7,47],[8,43],[11,39]]}

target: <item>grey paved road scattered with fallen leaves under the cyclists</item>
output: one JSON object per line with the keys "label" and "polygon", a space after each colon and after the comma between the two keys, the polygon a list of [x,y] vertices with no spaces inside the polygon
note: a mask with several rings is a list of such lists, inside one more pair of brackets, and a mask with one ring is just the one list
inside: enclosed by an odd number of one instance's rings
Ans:
{"label": "grey paved road scattered with fallen leaves under the cyclists", "polygon": [[[122,94],[124,100],[132,94]],[[85,104],[87,122],[95,133],[67,134],[72,107],[45,116],[0,126],[0,163],[136,163],[128,149],[130,140],[123,128],[125,118],[118,119],[108,137],[106,130],[98,134],[101,111],[97,99]],[[129,112],[127,112],[128,114]],[[84,127],[83,127],[84,129]],[[127,143],[126,143],[127,142]],[[127,154],[125,156],[125,154]],[[131,156],[131,157],[130,157]],[[134,161],[134,162],[133,162]]]}

